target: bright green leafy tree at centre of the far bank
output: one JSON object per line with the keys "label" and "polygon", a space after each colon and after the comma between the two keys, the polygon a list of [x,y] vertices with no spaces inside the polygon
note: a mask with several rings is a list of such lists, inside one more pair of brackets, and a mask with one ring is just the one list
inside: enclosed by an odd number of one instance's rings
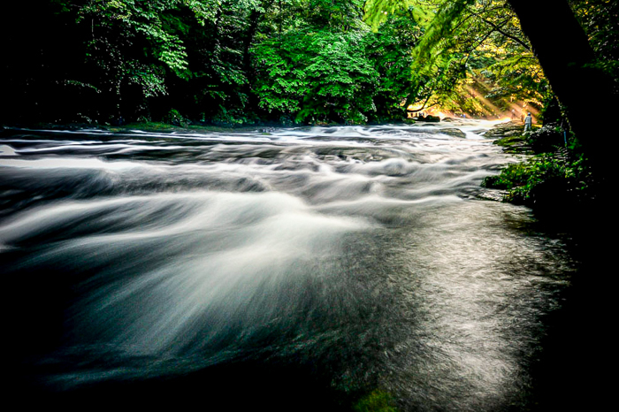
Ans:
{"label": "bright green leafy tree at centre of the far bank", "polygon": [[275,118],[310,122],[404,117],[410,50],[421,28],[407,9],[372,33],[361,3],[312,0],[310,11],[299,11],[281,33],[275,29],[252,48],[259,107]]}

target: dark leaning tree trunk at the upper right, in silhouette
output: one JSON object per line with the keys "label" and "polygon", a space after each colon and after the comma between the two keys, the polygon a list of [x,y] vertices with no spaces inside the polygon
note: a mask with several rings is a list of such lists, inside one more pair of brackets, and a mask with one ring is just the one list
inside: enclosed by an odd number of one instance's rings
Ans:
{"label": "dark leaning tree trunk at the upper right, in silhouette", "polygon": [[[600,178],[607,176],[617,155],[615,126],[609,118],[619,110],[613,80],[597,68],[585,31],[567,0],[508,0],[529,37],[554,94],[562,103],[569,125],[585,147]],[[607,112],[593,112],[589,107]],[[615,133],[616,134],[616,133]]]}

